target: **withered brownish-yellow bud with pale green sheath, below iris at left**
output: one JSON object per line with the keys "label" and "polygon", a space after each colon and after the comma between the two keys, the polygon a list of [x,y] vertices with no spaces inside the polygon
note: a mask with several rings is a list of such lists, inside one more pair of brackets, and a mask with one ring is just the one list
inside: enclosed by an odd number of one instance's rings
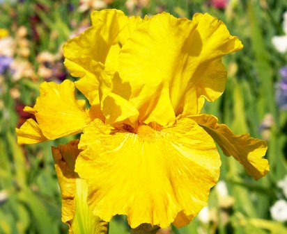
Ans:
{"label": "withered brownish-yellow bud with pale green sheath, below iris at left", "polygon": [[62,222],[68,224],[71,234],[105,234],[107,223],[92,214],[87,203],[86,181],[79,178],[75,160],[79,155],[79,140],[52,147],[54,165],[62,197]]}

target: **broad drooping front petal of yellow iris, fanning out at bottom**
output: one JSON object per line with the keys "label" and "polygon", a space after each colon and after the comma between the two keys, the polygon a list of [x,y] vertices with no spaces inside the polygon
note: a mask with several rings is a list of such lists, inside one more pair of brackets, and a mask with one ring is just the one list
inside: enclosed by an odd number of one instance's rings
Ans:
{"label": "broad drooping front petal of yellow iris, fanning out at bottom", "polygon": [[206,205],[221,165],[210,135],[192,119],[174,126],[139,126],[118,131],[95,119],[79,142],[76,172],[88,182],[88,203],[109,221],[127,215],[132,228],[142,223],[166,227],[187,224]]}

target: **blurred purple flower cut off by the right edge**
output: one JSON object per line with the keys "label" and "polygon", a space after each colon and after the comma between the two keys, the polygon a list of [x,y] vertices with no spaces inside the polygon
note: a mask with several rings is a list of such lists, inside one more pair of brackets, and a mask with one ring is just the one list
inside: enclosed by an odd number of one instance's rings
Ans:
{"label": "blurred purple flower cut off by the right edge", "polygon": [[287,66],[279,70],[282,79],[276,84],[276,99],[281,110],[287,110]]}

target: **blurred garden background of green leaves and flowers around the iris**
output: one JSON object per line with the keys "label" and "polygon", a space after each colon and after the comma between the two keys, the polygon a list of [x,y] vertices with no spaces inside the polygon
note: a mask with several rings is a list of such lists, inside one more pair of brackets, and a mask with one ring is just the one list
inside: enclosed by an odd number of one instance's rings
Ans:
{"label": "blurred garden background of green leaves and flowers around the iris", "polygon": [[[51,146],[72,137],[20,147],[15,127],[31,117],[22,109],[33,106],[42,81],[75,79],[63,66],[62,44],[90,25],[92,10],[102,8],[189,19],[209,12],[245,46],[224,57],[226,91],[204,112],[235,133],[267,140],[270,173],[254,181],[222,154],[208,206],[189,226],[160,232],[287,233],[287,1],[279,0],[0,0],[0,233],[68,233]],[[109,228],[111,234],[129,233],[125,217],[114,217]]]}

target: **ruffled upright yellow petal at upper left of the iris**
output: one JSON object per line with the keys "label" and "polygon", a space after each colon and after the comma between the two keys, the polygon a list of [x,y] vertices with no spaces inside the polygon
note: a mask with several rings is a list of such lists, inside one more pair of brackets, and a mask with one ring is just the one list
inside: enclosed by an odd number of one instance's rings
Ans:
{"label": "ruffled upright yellow petal at upper left of the iris", "polygon": [[100,74],[97,71],[99,68],[104,70],[106,61],[114,67],[107,57],[111,47],[116,44],[118,33],[127,24],[127,16],[121,10],[101,10],[94,11],[91,19],[93,26],[68,40],[63,46],[63,54],[64,64],[72,76],[82,78],[77,81],[76,87],[88,98],[91,105],[96,105],[100,101]]}

